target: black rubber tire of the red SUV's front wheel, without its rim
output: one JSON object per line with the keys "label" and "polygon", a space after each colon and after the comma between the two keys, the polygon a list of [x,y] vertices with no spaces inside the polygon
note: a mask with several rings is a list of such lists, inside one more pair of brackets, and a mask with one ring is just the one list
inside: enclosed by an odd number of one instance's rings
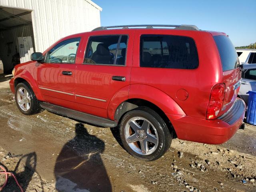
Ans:
{"label": "black rubber tire of the red SUV's front wheel, without its rim", "polygon": [[[18,91],[19,88],[26,89],[26,91],[28,92],[28,95],[30,97],[30,108],[27,111],[24,111],[20,107],[20,105],[18,104],[17,91]],[[15,88],[15,101],[16,101],[16,105],[17,105],[18,109],[20,110],[20,112],[22,112],[25,115],[36,114],[36,113],[39,113],[42,110],[42,108],[40,106],[40,101],[36,98],[36,95],[34,94],[32,88],[30,87],[30,85],[27,82],[19,83],[16,86],[16,88]]]}

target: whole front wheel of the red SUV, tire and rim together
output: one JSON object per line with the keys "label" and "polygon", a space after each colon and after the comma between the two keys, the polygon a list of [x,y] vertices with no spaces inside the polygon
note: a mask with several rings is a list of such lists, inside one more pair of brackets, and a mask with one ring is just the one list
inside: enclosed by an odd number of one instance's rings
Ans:
{"label": "whole front wheel of the red SUV, tire and rim together", "polygon": [[40,101],[36,98],[32,88],[26,82],[19,83],[15,88],[15,101],[18,109],[25,115],[40,112]]}

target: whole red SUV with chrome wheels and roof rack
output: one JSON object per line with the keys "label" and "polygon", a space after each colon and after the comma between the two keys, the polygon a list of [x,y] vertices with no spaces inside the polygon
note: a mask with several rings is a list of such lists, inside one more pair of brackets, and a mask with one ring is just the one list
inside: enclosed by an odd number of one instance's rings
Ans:
{"label": "whole red SUV with chrome wheels and roof rack", "polygon": [[160,158],[173,134],[221,144],[244,119],[238,55],[222,32],[100,27],[62,38],[31,60],[15,66],[10,81],[23,114],[43,108],[118,127],[124,148],[141,160]]}

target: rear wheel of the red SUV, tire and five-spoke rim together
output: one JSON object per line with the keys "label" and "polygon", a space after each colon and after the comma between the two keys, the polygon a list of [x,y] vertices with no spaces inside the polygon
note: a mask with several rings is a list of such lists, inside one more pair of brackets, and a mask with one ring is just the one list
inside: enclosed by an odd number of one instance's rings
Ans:
{"label": "rear wheel of the red SUV, tire and five-spoke rim together", "polygon": [[172,134],[164,120],[152,109],[136,108],[124,115],[120,123],[124,148],[145,161],[160,158],[170,147]]}

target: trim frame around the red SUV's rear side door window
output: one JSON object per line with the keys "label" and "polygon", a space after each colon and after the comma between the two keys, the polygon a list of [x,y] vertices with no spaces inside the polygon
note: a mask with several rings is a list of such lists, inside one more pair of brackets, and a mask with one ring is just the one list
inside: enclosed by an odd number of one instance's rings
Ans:
{"label": "trim frame around the red SUV's rear side door window", "polygon": [[[126,53],[125,53],[125,60],[124,60],[124,65],[118,65],[116,64],[116,58],[114,60],[114,64],[98,64],[98,63],[85,63],[85,60],[86,60],[86,55],[87,55],[87,48],[88,46],[90,46],[90,38],[91,37],[97,37],[97,36],[119,36],[118,38],[118,44],[117,44],[117,47],[116,47],[116,56],[118,54],[118,49],[119,49],[119,46],[120,46],[120,41],[121,41],[121,38],[122,36],[127,36],[127,40],[126,40]],[[89,36],[88,37],[88,42],[86,44],[86,48],[84,50],[84,61],[83,61],[83,65],[103,65],[103,66],[120,66],[120,67],[126,67],[126,57],[127,57],[127,50],[128,50],[128,41],[129,41],[129,35],[128,34],[107,34],[107,35],[92,35],[92,36]]]}

